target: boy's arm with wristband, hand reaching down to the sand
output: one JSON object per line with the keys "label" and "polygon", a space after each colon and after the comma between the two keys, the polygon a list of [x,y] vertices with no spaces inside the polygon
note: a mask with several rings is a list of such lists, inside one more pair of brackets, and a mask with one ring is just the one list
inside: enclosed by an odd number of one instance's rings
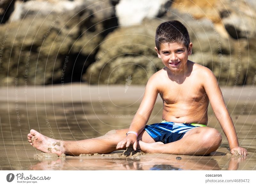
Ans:
{"label": "boy's arm with wristband, hand reaching down to the sand", "polygon": [[[129,131],[136,132],[138,136],[142,132],[142,130],[145,128],[145,125],[147,124],[148,119],[156,103],[156,98],[158,94],[158,89],[157,89],[158,84],[159,82],[157,82],[157,79],[154,75],[148,80],[140,107],[136,112],[132,120],[132,123],[130,125]],[[136,150],[137,143],[138,142],[137,142],[136,134],[129,133],[124,138],[124,140],[120,141],[117,144],[116,148],[119,149],[119,148],[123,148],[124,146],[129,147],[130,145],[133,144],[133,149]]]}

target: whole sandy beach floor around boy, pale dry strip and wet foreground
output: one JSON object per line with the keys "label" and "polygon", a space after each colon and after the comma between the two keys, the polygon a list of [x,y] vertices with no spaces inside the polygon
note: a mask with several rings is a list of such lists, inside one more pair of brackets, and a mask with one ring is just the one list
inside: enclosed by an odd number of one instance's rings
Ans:
{"label": "whole sandy beach floor around boy, pale dry strip and wet foreground", "polygon": [[[220,148],[208,156],[142,154],[120,157],[123,151],[107,155],[45,157],[27,142],[31,128],[45,136],[82,140],[104,135],[112,129],[128,128],[143,96],[144,86],[37,86],[0,88],[1,170],[256,170],[256,94],[251,87],[222,88],[236,126],[239,143],[249,155],[228,156],[228,142],[222,132]],[[250,94],[250,100],[247,97]],[[160,97],[148,124],[161,121]],[[209,126],[221,131],[209,108]],[[180,158],[177,158],[180,157]]]}

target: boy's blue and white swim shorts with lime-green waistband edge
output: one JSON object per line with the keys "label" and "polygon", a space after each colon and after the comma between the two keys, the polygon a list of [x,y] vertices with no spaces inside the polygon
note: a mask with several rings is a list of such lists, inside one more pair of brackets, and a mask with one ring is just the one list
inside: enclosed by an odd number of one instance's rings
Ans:
{"label": "boy's blue and white swim shorts with lime-green waistband edge", "polygon": [[146,125],[145,130],[155,142],[171,143],[180,140],[186,132],[195,127],[206,127],[196,123],[175,123],[163,120],[161,123]]}

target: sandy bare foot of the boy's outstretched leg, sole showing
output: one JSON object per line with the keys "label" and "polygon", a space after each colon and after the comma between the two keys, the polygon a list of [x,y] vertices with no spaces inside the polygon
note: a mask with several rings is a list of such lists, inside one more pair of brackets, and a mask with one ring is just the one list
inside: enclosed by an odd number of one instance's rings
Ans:
{"label": "sandy bare foot of the boy's outstretched leg, sole showing", "polygon": [[34,129],[31,129],[30,133],[28,134],[28,142],[37,150],[42,152],[55,153],[58,156],[60,156],[62,153],[65,154],[66,152],[63,141],[44,136]]}

